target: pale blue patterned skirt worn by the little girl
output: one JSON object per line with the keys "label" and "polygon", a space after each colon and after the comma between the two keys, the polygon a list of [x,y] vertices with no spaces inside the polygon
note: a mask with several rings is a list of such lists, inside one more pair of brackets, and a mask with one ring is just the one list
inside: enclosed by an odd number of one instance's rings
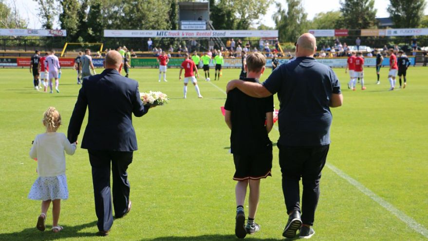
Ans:
{"label": "pale blue patterned skirt worn by the little girl", "polygon": [[32,200],[68,199],[67,177],[38,177],[31,187],[28,198]]}

